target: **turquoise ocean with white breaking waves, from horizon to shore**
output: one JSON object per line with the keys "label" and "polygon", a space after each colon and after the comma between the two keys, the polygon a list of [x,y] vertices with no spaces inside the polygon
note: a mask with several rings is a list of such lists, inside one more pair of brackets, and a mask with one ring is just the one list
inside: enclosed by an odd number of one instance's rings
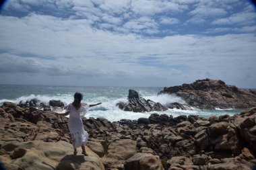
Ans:
{"label": "turquoise ocean with white breaking waves, from horizon to shore", "polygon": [[[148,118],[150,114],[167,114],[177,117],[180,115],[199,115],[201,117],[220,116],[222,114],[240,113],[241,110],[177,110],[168,109],[165,112],[125,112],[117,107],[119,101],[127,101],[129,89],[134,89],[139,93],[140,97],[151,99],[152,101],[160,102],[166,105],[172,102],[185,103],[181,97],[175,95],[162,94],[157,95],[163,87],[70,87],[70,86],[49,86],[49,85],[0,85],[0,105],[5,101],[13,103],[26,102],[30,99],[38,99],[40,102],[49,104],[51,99],[61,100],[68,104],[73,101],[73,94],[81,92],[84,94],[83,101],[86,103],[102,102],[102,105],[97,105],[90,108],[86,114],[86,118],[106,118],[110,122],[119,121],[121,119],[137,120],[138,118]],[[65,112],[65,110],[57,110],[57,112]]]}

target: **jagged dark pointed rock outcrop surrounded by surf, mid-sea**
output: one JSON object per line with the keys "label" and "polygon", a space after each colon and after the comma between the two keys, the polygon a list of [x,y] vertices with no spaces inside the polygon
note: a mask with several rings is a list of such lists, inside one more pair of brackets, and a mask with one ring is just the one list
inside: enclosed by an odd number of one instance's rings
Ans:
{"label": "jagged dark pointed rock outcrop surrounded by surf, mid-sea", "polygon": [[166,111],[166,108],[161,103],[156,103],[150,99],[146,100],[139,97],[137,91],[129,90],[128,102],[120,101],[117,106],[121,110],[129,112],[152,112],[152,111]]}

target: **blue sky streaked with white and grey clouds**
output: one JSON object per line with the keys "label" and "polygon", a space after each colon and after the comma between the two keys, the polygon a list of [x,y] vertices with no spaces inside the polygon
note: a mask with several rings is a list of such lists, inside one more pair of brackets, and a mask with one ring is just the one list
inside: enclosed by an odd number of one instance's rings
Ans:
{"label": "blue sky streaked with white and grey clouds", "polygon": [[12,0],[0,13],[0,84],[256,88],[245,0]]}

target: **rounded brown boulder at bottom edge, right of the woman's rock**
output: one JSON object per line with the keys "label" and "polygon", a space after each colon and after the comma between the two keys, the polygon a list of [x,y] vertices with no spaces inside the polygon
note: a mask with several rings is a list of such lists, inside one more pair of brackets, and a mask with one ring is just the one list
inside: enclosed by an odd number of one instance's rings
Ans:
{"label": "rounded brown boulder at bottom edge, right of the woman's rock", "polygon": [[133,170],[164,170],[158,156],[148,153],[136,153],[125,161],[125,169]]}

